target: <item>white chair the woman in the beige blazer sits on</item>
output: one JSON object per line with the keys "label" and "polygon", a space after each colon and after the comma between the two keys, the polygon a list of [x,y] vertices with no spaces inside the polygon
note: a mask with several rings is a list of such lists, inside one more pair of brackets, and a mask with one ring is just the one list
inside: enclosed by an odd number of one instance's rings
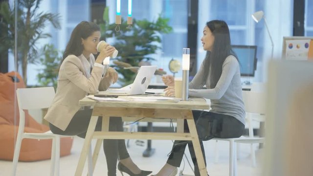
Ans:
{"label": "white chair the woman in the beige blazer sits on", "polygon": [[[23,138],[30,139],[52,139],[51,166],[50,176],[59,176],[60,161],[60,137],[68,137],[65,135],[54,134],[51,131],[44,133],[28,133],[24,132],[25,113],[24,110],[35,110],[48,108],[54,98],[55,92],[53,87],[45,88],[18,88],[17,99],[20,111],[20,125],[17,140],[14,149],[12,176],[16,175],[17,164],[19,161],[20,149]],[[91,160],[91,152],[89,153],[89,165]],[[92,164],[91,164],[92,166]],[[25,173],[24,173],[25,174]],[[89,176],[92,175],[92,169],[89,167]]]}

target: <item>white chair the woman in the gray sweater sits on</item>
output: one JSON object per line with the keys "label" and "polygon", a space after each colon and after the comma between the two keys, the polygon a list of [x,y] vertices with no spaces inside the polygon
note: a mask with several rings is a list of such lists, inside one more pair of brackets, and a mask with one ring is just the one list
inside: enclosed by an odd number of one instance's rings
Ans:
{"label": "white chair the woman in the gray sweater sits on", "polygon": [[[253,91],[243,91],[243,100],[245,103],[246,113],[256,113],[256,114],[265,114],[265,98],[266,95],[261,92],[253,92]],[[252,118],[248,117],[247,125],[249,131],[249,137],[239,137],[239,138],[214,138],[216,141],[223,140],[229,141],[229,176],[237,175],[237,150],[236,143],[247,143],[251,145],[251,161],[252,165],[255,162],[255,151],[253,148],[254,143],[264,143],[263,137],[254,137],[253,136],[253,126],[252,126]],[[216,151],[215,151],[215,161],[218,160],[218,147],[216,143]]]}

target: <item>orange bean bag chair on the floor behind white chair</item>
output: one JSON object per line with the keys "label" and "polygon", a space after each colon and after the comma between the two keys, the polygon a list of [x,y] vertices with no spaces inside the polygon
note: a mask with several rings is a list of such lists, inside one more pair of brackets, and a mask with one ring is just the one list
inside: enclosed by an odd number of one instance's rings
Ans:
{"label": "orange bean bag chair on the floor behind white chair", "polygon": [[[16,88],[25,88],[21,75],[15,72],[0,73],[0,159],[13,160],[14,143],[17,138],[19,129],[19,108],[15,95]],[[14,106],[16,106],[14,108]],[[14,116],[16,122],[14,123]],[[37,123],[25,111],[25,128],[24,132],[46,132],[49,127]],[[61,138],[61,156],[70,154],[73,139],[70,137]],[[23,139],[20,151],[20,161],[37,161],[51,158],[51,139]]]}

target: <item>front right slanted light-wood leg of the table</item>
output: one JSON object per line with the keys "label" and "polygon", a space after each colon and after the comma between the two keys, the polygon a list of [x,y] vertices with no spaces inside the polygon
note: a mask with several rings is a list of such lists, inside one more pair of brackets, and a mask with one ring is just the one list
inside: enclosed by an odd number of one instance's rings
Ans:
{"label": "front right slanted light-wood leg of the table", "polygon": [[207,176],[206,167],[204,164],[204,159],[201,151],[200,141],[198,138],[196,124],[194,119],[187,119],[187,124],[189,127],[190,134],[192,136],[192,144],[194,146],[196,158],[198,161],[199,171],[201,176]]}

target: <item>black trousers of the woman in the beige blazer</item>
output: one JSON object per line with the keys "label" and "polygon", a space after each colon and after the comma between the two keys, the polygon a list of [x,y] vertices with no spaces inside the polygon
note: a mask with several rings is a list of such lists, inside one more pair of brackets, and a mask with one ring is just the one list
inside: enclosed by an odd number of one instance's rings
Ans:
{"label": "black trousers of the woman in the beige blazer", "polygon": [[[61,135],[78,135],[85,138],[88,129],[89,121],[91,119],[92,109],[79,110],[76,112],[72,120],[70,121],[67,129],[62,131],[56,126],[49,123],[51,132]],[[102,118],[99,118],[95,131],[101,131]],[[110,117],[109,131],[123,131],[123,121],[121,117]],[[108,176],[116,176],[116,162],[117,157],[119,159],[125,159],[130,157],[124,139],[104,139],[103,150],[106,155]]]}

